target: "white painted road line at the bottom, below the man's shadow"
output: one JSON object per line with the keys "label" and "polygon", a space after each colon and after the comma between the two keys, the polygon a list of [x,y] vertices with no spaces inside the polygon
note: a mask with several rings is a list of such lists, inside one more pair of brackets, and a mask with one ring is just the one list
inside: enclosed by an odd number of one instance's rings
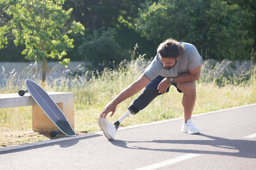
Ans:
{"label": "white painted road line at the bottom, below the man's shadow", "polygon": [[145,167],[142,167],[142,168],[138,168],[136,170],[151,170],[151,169],[161,168],[161,167],[164,167],[164,166],[167,166],[167,165],[171,165],[171,164],[174,164],[176,162],[180,162],[182,160],[189,159],[189,158],[192,158],[192,157],[195,157],[195,156],[199,156],[199,155],[200,154],[189,153],[189,154],[182,155],[182,156],[179,156],[179,157],[176,157],[176,158],[165,160],[163,162],[159,162],[157,164],[152,164],[152,165],[148,165],[148,166],[145,166]]}

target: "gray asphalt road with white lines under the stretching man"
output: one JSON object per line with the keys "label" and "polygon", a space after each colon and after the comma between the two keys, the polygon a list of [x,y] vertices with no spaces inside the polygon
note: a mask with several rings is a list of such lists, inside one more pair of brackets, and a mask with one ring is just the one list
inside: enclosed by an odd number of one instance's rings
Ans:
{"label": "gray asphalt road with white lines under the stretching man", "polygon": [[256,169],[256,104],[0,149],[0,169]]}

